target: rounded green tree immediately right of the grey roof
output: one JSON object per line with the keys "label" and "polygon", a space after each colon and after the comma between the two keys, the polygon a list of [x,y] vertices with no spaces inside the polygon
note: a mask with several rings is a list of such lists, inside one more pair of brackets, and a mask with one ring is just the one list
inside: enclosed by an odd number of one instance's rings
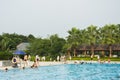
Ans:
{"label": "rounded green tree immediately right of the grey roof", "polygon": [[50,41],[47,39],[35,39],[30,43],[31,55],[46,56],[49,54]]}

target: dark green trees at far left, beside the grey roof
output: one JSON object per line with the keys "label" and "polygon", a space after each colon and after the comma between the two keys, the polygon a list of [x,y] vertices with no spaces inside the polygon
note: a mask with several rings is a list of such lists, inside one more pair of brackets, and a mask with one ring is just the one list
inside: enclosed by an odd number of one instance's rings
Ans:
{"label": "dark green trees at far left, beside the grey roof", "polygon": [[3,33],[0,37],[0,50],[15,50],[21,42],[28,42],[28,38],[18,34]]}

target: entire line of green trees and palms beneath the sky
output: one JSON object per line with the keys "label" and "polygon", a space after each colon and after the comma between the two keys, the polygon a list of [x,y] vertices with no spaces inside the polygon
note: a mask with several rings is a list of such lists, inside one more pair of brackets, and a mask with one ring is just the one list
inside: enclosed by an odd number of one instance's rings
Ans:
{"label": "entire line of green trees and palms beneath the sky", "polygon": [[[30,43],[25,51],[27,54],[52,58],[64,55],[68,50],[71,51],[71,55],[76,56],[76,48],[79,45],[120,44],[120,24],[108,24],[103,27],[90,25],[85,29],[73,27],[67,32],[69,35],[66,38],[61,38],[58,34],[37,38],[32,34],[25,36],[3,33],[0,35],[0,56],[10,56],[16,50],[16,46],[22,42]],[[0,58],[8,59],[8,57]]]}

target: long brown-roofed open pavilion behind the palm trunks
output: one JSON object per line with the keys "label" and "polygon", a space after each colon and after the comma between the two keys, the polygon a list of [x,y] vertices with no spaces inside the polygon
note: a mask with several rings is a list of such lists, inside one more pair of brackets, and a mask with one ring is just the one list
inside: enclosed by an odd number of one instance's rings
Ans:
{"label": "long brown-roofed open pavilion behind the palm trunks", "polygon": [[85,54],[91,55],[94,53],[96,54],[103,54],[106,56],[116,55],[116,57],[120,57],[120,44],[113,44],[113,45],[79,45],[76,48],[77,55]]}

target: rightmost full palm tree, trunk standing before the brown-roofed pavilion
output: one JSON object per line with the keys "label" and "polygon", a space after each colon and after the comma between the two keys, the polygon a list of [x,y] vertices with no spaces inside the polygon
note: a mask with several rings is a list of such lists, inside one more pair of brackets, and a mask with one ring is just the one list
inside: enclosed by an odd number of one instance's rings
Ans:
{"label": "rightmost full palm tree, trunk standing before the brown-roofed pavilion", "polygon": [[101,29],[101,43],[103,45],[109,45],[109,57],[112,56],[112,48],[111,45],[115,44],[115,29],[116,25],[105,25]]}

